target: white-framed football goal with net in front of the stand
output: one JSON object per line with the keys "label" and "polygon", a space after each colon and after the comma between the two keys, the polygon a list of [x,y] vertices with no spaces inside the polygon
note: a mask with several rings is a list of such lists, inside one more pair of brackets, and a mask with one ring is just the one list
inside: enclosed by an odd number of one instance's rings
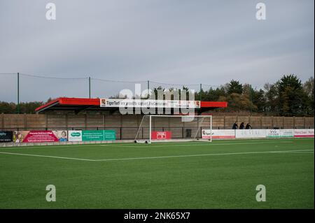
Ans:
{"label": "white-framed football goal with net in front of the stand", "polygon": [[134,143],[212,141],[212,115],[144,115]]}

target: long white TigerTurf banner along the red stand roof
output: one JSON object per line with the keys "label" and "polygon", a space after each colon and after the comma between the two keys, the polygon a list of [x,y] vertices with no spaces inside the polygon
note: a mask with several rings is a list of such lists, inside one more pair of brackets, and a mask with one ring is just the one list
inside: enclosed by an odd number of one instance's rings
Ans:
{"label": "long white TigerTurf banner along the red stand roof", "polygon": [[154,99],[100,99],[100,106],[112,108],[200,108],[200,101]]}

